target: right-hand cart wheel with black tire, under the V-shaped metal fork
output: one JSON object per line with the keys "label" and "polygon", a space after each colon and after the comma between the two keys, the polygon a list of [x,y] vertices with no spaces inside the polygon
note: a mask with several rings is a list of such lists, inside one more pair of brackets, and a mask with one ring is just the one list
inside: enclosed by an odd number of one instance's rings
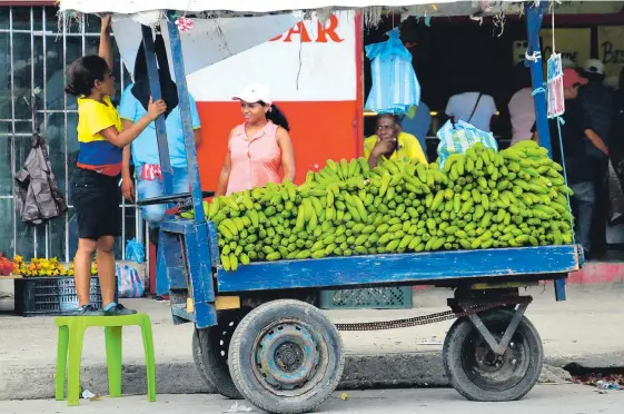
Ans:
{"label": "right-hand cart wheel with black tire, under the V-shaped metal fork", "polygon": [[[514,310],[479,315],[496,341],[501,341]],[[468,318],[453,324],[444,342],[446,376],[459,394],[472,401],[514,401],[525,396],[539,379],[544,348],[535,326],[523,317],[507,351],[496,356]]]}

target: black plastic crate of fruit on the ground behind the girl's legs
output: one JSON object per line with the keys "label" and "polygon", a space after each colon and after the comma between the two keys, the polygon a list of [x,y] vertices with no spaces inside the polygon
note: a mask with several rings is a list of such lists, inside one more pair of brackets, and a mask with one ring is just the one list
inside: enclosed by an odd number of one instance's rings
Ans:
{"label": "black plastic crate of fruit on the ground behind the girl's legs", "polygon": [[[16,279],[16,313],[20,316],[67,315],[78,307],[73,277],[24,277]],[[90,302],[102,306],[100,282],[91,277]]]}

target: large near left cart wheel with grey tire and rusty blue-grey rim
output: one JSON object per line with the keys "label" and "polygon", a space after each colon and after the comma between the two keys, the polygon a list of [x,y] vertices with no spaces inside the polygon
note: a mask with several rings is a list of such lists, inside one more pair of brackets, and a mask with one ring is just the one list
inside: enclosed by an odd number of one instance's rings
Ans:
{"label": "large near left cart wheel with grey tire and rusty blue-grey rim", "polygon": [[229,347],[240,394],[276,414],[309,412],[336,390],[345,364],[336,326],[315,306],[274,300],[251,310]]}

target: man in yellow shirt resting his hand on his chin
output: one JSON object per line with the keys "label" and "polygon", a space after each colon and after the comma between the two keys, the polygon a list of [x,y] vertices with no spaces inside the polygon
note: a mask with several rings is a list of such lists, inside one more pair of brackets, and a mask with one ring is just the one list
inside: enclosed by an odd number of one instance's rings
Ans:
{"label": "man in yellow shirt resting his hand on his chin", "polygon": [[398,118],[392,114],[377,117],[377,135],[364,140],[364,157],[370,168],[377,167],[385,159],[395,158],[416,158],[420,162],[427,162],[418,139],[412,134],[403,132]]}

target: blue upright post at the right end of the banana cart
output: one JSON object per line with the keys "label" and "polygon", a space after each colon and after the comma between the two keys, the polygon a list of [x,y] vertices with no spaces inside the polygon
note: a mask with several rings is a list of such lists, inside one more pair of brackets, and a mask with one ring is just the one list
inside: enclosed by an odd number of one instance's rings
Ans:
{"label": "blue upright post at the right end of the banana cart", "polygon": [[[531,68],[531,80],[533,83],[533,101],[535,102],[535,119],[537,121],[537,134],[539,135],[539,145],[548,150],[552,158],[551,132],[548,130],[548,115],[546,106],[546,91],[544,88],[544,70],[542,51],[539,50],[539,29],[542,28],[542,19],[548,6],[547,1],[541,1],[539,6],[533,2],[525,3],[526,13],[526,32],[528,36],[528,56],[535,56],[535,60],[528,60]],[[553,28],[554,30],[554,28]]]}

